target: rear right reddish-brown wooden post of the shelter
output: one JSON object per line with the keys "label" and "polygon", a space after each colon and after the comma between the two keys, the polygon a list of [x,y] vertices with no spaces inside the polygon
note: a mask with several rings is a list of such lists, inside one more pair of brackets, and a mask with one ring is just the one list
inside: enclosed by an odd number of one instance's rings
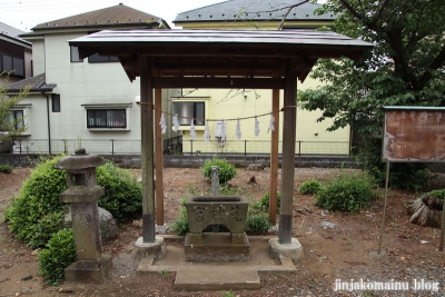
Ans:
{"label": "rear right reddish-brown wooden post of the shelter", "polygon": [[270,136],[269,221],[275,226],[277,224],[279,89],[271,91],[271,111],[275,118],[275,131],[271,131]]}

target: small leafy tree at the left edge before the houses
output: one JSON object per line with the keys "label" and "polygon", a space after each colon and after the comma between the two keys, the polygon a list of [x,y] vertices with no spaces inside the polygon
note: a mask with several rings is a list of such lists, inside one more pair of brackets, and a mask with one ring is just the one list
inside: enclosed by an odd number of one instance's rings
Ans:
{"label": "small leafy tree at the left edge before the houses", "polygon": [[[0,78],[6,77],[6,82],[9,81],[7,72],[0,72]],[[8,87],[0,87],[0,140],[7,140],[21,135],[27,130],[22,122],[22,118],[11,119],[11,108],[19,103],[28,96],[30,87],[24,88],[16,96],[8,96]]]}

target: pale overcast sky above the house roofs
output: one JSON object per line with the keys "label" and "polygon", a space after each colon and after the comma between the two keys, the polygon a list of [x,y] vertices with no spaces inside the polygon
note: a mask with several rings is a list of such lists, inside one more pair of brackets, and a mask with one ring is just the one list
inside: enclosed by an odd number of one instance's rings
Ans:
{"label": "pale overcast sky above the house roofs", "polygon": [[39,23],[112,7],[122,2],[165,19],[171,28],[176,14],[225,0],[0,0],[0,22],[29,32]]}

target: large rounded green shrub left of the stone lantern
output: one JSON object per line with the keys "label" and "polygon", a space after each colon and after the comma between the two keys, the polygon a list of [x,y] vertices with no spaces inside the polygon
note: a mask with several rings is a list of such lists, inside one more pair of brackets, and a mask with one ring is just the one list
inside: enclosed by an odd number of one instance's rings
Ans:
{"label": "large rounded green shrub left of the stone lantern", "polygon": [[53,168],[60,158],[40,160],[4,214],[10,230],[32,248],[48,242],[59,224],[51,220],[65,209],[59,195],[67,189],[66,174]]}

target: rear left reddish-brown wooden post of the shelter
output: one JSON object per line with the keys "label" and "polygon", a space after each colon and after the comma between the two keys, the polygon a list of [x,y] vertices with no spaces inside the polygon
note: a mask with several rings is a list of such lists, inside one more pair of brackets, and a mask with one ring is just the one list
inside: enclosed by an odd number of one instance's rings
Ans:
{"label": "rear left reddish-brown wooden post of the shelter", "polygon": [[162,115],[162,89],[155,89],[155,108],[156,225],[164,226],[164,141],[159,125]]}

